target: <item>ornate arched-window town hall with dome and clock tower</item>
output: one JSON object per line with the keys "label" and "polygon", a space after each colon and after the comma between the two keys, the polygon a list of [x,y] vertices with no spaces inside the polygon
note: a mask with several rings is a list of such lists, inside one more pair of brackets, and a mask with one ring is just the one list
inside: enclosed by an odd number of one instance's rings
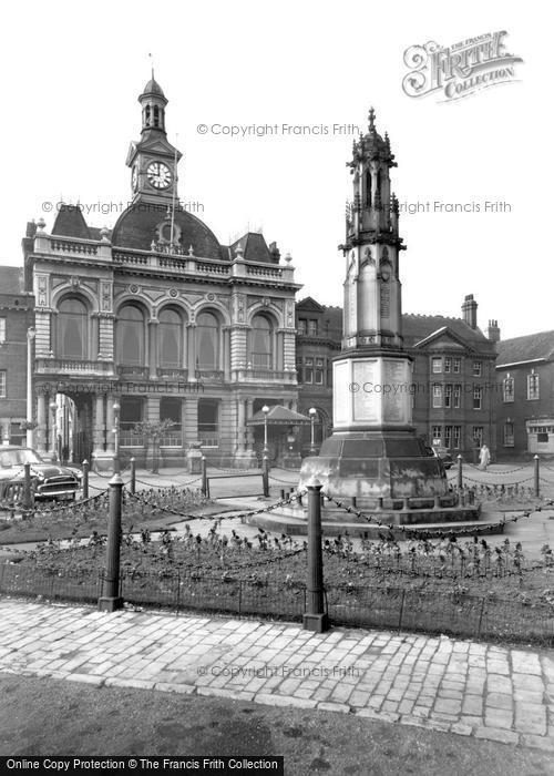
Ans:
{"label": "ornate arched-window town hall with dome and clock tower", "polygon": [[[35,443],[52,451],[50,407],[61,394],[76,460],[110,466],[119,412],[123,457],[146,455],[137,422],[171,420],[166,463],[201,445],[214,464],[248,467],[263,436],[253,416],[264,405],[297,408],[294,267],[261,234],[222,245],[179,205],[181,153],[167,141],[167,100],[154,78],[138,101],[141,140],[126,159],[132,204],[114,227],[92,227],[68,205],[50,233],[41,221],[23,239],[37,300]],[[270,429],[276,459],[287,430]]]}

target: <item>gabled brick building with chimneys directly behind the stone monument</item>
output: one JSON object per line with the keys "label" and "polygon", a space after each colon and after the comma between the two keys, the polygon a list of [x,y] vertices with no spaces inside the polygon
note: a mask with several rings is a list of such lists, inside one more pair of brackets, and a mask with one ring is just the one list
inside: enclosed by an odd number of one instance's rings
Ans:
{"label": "gabled brick building with chimneys directly behind the stone monument", "polygon": [[[299,405],[305,415],[309,407],[318,410],[325,437],[332,426],[329,365],[340,351],[342,310],[308,297],[297,305],[297,329]],[[500,337],[495,321],[485,336],[478,326],[478,303],[469,295],[460,318],[403,314],[402,336],[413,359],[418,433],[430,445],[443,445],[466,459],[473,459],[483,442],[494,452],[494,365]]]}

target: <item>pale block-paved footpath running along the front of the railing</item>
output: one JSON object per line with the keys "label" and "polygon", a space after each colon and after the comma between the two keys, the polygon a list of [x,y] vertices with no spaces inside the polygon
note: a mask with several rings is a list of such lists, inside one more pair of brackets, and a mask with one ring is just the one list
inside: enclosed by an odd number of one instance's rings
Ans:
{"label": "pale block-paved footpath running along the front of the railing", "polygon": [[554,652],[0,599],[0,672],[353,713],[554,752]]}

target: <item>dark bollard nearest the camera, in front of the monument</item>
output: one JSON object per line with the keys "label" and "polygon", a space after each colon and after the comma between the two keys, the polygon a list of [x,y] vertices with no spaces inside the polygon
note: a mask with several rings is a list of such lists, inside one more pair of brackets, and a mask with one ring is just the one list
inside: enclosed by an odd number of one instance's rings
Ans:
{"label": "dark bollard nearest the camera, in front of the monument", "polygon": [[304,613],[305,631],[324,633],[329,630],[329,617],[325,611],[324,557],[321,552],[321,488],[312,478],[308,484],[308,581],[307,612]]}

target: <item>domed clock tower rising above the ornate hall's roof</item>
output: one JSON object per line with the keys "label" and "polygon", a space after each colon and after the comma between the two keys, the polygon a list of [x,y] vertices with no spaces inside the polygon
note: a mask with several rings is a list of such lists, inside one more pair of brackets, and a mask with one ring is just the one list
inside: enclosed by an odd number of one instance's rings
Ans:
{"label": "domed clock tower rising above the ornate hall's roof", "polygon": [[165,133],[167,99],[152,78],[138,98],[142,108],[141,140],[131,143],[126,164],[131,169],[132,202],[178,204],[177,163],[182,156]]}

